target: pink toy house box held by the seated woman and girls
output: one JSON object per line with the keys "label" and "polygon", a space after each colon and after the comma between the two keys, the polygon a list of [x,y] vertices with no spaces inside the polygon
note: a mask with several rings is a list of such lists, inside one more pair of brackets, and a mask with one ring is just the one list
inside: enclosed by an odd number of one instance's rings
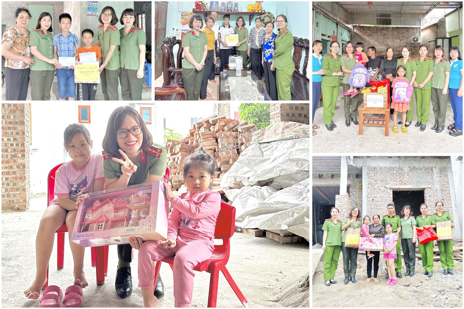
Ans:
{"label": "pink toy house box held by the seated woman and girls", "polygon": [[164,184],[134,185],[84,194],[71,240],[84,247],[128,244],[129,236],[165,240],[169,201]]}

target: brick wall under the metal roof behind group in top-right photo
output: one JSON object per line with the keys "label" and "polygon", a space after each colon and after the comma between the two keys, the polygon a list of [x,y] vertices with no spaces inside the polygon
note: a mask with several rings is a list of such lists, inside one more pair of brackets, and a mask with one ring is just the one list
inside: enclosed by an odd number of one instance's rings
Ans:
{"label": "brick wall under the metal roof behind group in top-right photo", "polygon": [[353,26],[354,42],[364,43],[364,52],[367,55],[367,47],[374,46],[377,50],[376,55],[385,54],[387,47],[391,46],[394,56],[401,57],[401,49],[404,45],[411,47],[410,57],[419,57],[418,43],[411,43],[411,37],[420,35],[419,27],[371,27]]}

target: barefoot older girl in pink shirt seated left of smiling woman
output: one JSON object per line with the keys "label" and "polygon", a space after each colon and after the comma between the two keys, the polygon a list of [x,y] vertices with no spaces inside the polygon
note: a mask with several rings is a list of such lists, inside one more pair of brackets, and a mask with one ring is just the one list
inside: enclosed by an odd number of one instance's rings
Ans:
{"label": "barefoot older girl in pink shirt seated left of smiling woman", "polygon": [[35,241],[36,275],[29,289],[24,291],[27,298],[37,299],[47,281],[47,265],[52,255],[55,231],[66,223],[69,243],[74,260],[74,284],[85,288],[88,283],[84,275],[84,247],[71,241],[71,232],[76,221],[77,206],[81,194],[103,190],[103,155],[90,155],[93,142],[90,133],[82,124],[70,124],[64,130],[64,148],[71,161],[64,163],[55,174],[55,195],[45,209],[40,220]]}

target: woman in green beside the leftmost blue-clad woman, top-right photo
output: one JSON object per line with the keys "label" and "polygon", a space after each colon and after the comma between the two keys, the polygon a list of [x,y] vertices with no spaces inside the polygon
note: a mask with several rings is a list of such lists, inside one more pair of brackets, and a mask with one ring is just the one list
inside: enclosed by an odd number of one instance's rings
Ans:
{"label": "woman in green beside the leftmost blue-clad woman, top-right photo", "polygon": [[337,103],[341,76],[343,75],[340,55],[338,55],[339,49],[340,44],[337,41],[330,42],[330,53],[325,54],[324,58],[322,58],[322,70],[327,72],[322,75],[321,82],[322,97],[324,99],[322,108],[324,124],[329,131],[333,131],[337,127],[332,119],[335,115],[335,104]]}

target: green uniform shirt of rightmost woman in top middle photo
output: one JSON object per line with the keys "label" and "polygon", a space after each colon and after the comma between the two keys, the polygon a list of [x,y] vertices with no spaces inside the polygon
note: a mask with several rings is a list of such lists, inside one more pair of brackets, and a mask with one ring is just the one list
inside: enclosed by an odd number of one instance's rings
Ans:
{"label": "green uniform shirt of rightmost woman in top middle photo", "polygon": [[[293,34],[285,27],[274,39],[274,67],[278,70],[295,70],[295,64],[291,58],[293,51]],[[278,83],[277,83],[278,84]]]}

